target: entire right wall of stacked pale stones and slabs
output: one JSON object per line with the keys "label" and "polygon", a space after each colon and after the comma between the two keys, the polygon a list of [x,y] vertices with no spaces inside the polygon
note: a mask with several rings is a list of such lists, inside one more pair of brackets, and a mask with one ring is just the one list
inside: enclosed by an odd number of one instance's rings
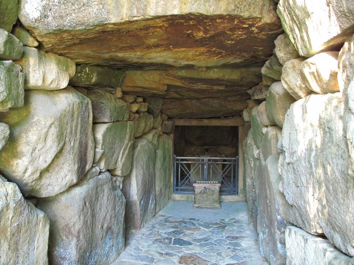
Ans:
{"label": "entire right wall of stacked pale stones and slabs", "polygon": [[[265,98],[268,120],[264,102],[252,109],[244,142],[250,222],[271,264],[353,262],[353,12],[351,1],[279,1],[281,82]],[[262,73],[276,79],[271,60]]]}

